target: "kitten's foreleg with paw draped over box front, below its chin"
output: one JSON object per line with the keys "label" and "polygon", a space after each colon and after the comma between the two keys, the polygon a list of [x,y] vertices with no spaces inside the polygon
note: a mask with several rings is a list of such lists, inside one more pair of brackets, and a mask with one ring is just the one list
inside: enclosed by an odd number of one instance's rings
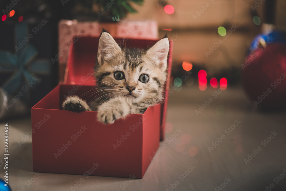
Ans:
{"label": "kitten's foreleg with paw draped over box front, below its chin", "polygon": [[138,113],[132,103],[124,97],[112,98],[98,107],[97,119],[104,124],[112,124],[115,120],[125,118],[130,113]]}

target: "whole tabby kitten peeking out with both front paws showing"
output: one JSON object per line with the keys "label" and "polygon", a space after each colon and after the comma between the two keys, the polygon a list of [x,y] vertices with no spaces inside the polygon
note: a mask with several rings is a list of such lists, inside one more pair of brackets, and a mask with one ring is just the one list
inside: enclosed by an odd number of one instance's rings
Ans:
{"label": "whole tabby kitten peeking out with both front paws showing", "polygon": [[98,121],[112,124],[129,114],[142,114],[163,100],[167,80],[167,36],[147,50],[120,48],[103,29],[95,67],[95,98],[89,106],[77,96],[63,102],[64,110],[97,111]]}

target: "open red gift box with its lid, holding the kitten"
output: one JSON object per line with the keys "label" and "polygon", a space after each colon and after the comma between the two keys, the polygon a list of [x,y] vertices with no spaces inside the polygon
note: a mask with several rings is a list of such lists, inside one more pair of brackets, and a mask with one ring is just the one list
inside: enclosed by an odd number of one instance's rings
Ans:
{"label": "open red gift box with its lid, holding the kitten", "polygon": [[[72,45],[65,84],[59,84],[32,108],[33,171],[63,174],[142,178],[164,137],[165,101],[144,114],[104,125],[97,112],[62,110],[66,96],[78,95],[90,102],[95,79],[93,67],[98,39],[82,37]],[[115,39],[117,42],[122,39]],[[128,39],[126,47],[146,49],[154,40]],[[168,79],[172,61],[168,56]],[[91,96],[92,95],[92,96]]]}

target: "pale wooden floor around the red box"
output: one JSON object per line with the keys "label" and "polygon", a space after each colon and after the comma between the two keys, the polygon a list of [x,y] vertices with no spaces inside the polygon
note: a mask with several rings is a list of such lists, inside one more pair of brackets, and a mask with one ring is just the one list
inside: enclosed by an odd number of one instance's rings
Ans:
{"label": "pale wooden floor around the red box", "polygon": [[[209,98],[213,101],[203,106]],[[200,106],[206,107],[197,115]],[[13,191],[285,190],[285,116],[284,111],[258,110],[240,87],[218,95],[214,89],[184,86],[170,95],[166,139],[142,180],[89,176],[76,189],[83,176],[32,171],[32,139],[26,136],[30,118],[2,121],[0,130],[9,123]]]}

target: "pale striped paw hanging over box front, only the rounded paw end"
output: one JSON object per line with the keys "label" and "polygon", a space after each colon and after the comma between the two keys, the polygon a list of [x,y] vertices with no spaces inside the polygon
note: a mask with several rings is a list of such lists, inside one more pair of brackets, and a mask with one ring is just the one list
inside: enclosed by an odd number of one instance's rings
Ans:
{"label": "pale striped paw hanging over box front, only the rounded paw end", "polygon": [[97,119],[103,124],[113,124],[115,120],[125,118],[129,110],[127,103],[108,101],[98,107]]}

